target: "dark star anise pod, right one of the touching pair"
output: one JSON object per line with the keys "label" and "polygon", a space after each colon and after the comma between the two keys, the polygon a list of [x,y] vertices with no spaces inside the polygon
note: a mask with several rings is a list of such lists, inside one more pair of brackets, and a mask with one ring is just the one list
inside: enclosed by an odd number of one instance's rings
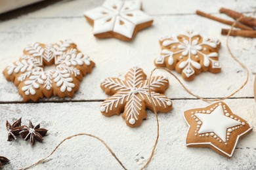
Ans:
{"label": "dark star anise pod, right one of the touching pair", "polygon": [[40,143],[43,141],[43,137],[45,136],[47,131],[47,129],[40,128],[40,124],[34,127],[32,122],[30,121],[30,125],[24,126],[22,131],[20,131],[20,135],[26,141],[30,139],[30,143],[33,146],[33,144],[35,144],[35,141],[39,141]]}

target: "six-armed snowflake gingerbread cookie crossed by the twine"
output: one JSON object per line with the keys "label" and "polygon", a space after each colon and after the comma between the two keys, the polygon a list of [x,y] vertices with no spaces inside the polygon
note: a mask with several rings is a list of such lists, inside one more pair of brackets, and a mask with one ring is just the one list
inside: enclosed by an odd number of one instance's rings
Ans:
{"label": "six-armed snowflake gingerbread cookie crossed by the twine", "polygon": [[100,106],[100,111],[105,116],[119,115],[125,119],[127,126],[140,126],[146,118],[146,108],[158,112],[168,112],[172,109],[171,100],[162,93],[168,88],[169,82],[164,76],[153,76],[150,80],[150,92],[148,91],[148,79],[139,67],[133,67],[125,75],[125,80],[119,78],[106,78],[102,80],[100,87],[107,95],[112,95]]}

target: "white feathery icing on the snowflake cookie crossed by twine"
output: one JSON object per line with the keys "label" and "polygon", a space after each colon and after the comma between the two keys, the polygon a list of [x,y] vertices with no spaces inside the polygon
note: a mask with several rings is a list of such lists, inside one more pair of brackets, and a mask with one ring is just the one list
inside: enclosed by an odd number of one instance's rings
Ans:
{"label": "white feathery icing on the snowflake cookie crossed by twine", "polygon": [[[128,76],[127,76],[128,75]],[[102,86],[105,88],[118,90],[117,93],[112,95],[109,99],[102,103],[100,110],[108,113],[113,108],[117,108],[119,104],[125,104],[126,118],[127,120],[135,119],[138,120],[139,115],[138,110],[142,109],[142,100],[148,100],[150,103],[150,95],[148,92],[148,80],[144,80],[142,75],[144,75],[142,69],[139,67],[133,67],[127,73],[127,80],[123,81],[119,78],[106,78],[102,82]],[[150,80],[150,90],[153,104],[156,107],[167,108],[171,105],[171,100],[161,93],[154,92],[156,88],[161,88],[168,83],[165,76],[153,76]],[[142,99],[140,99],[140,96]],[[131,122],[129,122],[131,124]]]}

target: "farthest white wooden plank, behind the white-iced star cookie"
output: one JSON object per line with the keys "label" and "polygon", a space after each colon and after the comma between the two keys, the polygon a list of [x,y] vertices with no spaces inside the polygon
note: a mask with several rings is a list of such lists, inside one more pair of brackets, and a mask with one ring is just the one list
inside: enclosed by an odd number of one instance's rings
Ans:
{"label": "farthest white wooden plank, behind the white-iced star cookie", "polygon": [[[104,0],[94,1],[94,0],[79,0],[79,1],[64,1],[56,3],[51,7],[39,10],[29,14],[29,17],[79,17],[83,15],[83,12],[88,9],[93,9],[98,7],[104,2]],[[61,6],[61,7],[60,7]],[[239,12],[255,12],[255,1],[253,0],[231,0],[231,1],[207,1],[194,0],[194,1],[174,1],[174,0],[159,0],[159,1],[146,1],[142,0],[143,10],[148,14],[152,15],[184,15],[184,14],[194,14],[196,10],[205,10],[208,13],[218,13],[221,7],[226,7],[228,9],[237,10]],[[75,9],[75,10],[71,10]],[[49,12],[51,11],[51,12]]]}

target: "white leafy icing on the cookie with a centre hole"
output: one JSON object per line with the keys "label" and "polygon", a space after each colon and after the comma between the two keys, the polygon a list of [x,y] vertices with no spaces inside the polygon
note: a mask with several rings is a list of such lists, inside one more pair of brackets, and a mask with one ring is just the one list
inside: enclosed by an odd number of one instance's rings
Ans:
{"label": "white leafy icing on the cookie with a centre hole", "polygon": [[[83,56],[81,53],[77,53],[77,50],[72,48],[66,52],[66,49],[71,46],[73,42],[70,40],[59,41],[56,44],[46,44],[43,48],[39,43],[35,42],[29,44],[25,51],[29,55],[22,56],[21,61],[16,61],[7,67],[8,74],[22,73],[18,76],[20,82],[24,81],[24,86],[21,90],[26,95],[35,95],[36,89],[39,85],[43,85],[43,88],[51,90],[53,82],[57,87],[60,87],[61,92],[72,91],[75,84],[71,75],[80,75],[79,69],[76,69],[76,65],[90,65],[91,60],[87,56]],[[43,59],[50,62],[54,59],[56,69],[44,71]]]}

